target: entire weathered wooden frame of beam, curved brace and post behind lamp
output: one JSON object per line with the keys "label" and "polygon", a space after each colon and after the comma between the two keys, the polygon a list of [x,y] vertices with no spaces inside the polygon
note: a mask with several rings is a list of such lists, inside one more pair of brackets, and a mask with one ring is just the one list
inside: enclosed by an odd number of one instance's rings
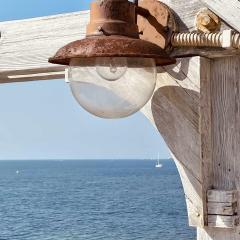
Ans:
{"label": "entire weathered wooden frame of beam, curved brace and post behind lamp", "polygon": [[[162,2],[180,32],[194,31],[197,13],[206,7],[222,18],[219,30],[240,32],[238,0]],[[0,23],[0,83],[64,78],[64,67],[48,58],[85,37],[88,20],[85,11]],[[211,21],[204,19],[203,27],[211,28]],[[198,240],[240,239],[240,52],[229,36],[224,48],[176,48],[177,64],[159,68],[156,91],[142,110],[172,152]]]}

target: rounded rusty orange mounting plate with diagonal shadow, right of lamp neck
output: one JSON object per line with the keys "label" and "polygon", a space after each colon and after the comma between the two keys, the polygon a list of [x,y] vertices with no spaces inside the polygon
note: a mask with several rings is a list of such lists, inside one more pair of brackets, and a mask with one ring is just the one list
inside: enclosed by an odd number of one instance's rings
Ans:
{"label": "rounded rusty orange mounting plate with diagonal shadow, right of lamp neck", "polygon": [[173,13],[157,0],[140,0],[138,5],[137,23],[139,31],[143,32],[140,38],[167,49],[172,33],[177,30]]}

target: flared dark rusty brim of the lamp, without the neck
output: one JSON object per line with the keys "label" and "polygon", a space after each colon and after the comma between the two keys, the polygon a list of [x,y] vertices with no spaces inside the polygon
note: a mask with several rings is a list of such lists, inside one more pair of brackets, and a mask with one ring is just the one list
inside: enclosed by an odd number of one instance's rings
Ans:
{"label": "flared dark rusty brim of the lamp, without the neck", "polygon": [[175,59],[156,44],[121,36],[95,36],[72,42],[61,48],[49,62],[69,65],[72,58],[95,57],[154,58],[158,66],[175,63]]}

